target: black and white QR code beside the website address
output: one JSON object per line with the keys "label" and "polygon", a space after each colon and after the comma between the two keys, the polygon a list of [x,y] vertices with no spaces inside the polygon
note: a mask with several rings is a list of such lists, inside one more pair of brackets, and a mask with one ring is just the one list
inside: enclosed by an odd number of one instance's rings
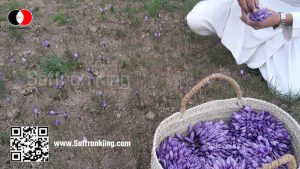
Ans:
{"label": "black and white QR code beside the website address", "polygon": [[48,127],[11,127],[10,155],[12,162],[47,162]]}

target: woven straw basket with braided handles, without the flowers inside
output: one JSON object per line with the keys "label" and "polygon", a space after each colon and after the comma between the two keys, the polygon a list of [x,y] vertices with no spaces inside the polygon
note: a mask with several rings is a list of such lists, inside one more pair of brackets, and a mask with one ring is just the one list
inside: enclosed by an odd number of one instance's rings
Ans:
{"label": "woven straw basket with braided handles, without the flowers inside", "polygon": [[[223,80],[228,82],[235,89],[237,98],[214,100],[185,110],[185,106],[192,95],[209,84],[211,80]],[[186,134],[188,125],[194,125],[199,121],[220,119],[228,121],[232,112],[238,111],[242,105],[251,106],[258,111],[270,111],[273,116],[285,124],[285,127],[292,135],[294,156],[286,154],[272,163],[264,164],[262,169],[275,169],[287,163],[289,164],[289,169],[297,169],[297,163],[300,164],[300,126],[296,120],[274,104],[263,100],[242,97],[242,91],[237,82],[231,77],[219,73],[212,74],[200,81],[182,99],[180,112],[171,115],[160,123],[156,129],[153,140],[151,169],[162,169],[156,156],[156,148],[166,137],[174,135],[175,133]],[[300,167],[298,169],[300,169]]]}

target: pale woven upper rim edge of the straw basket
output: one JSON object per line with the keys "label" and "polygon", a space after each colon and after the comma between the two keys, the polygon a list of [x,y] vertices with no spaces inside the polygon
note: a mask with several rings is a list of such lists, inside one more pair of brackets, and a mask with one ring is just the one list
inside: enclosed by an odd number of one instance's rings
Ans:
{"label": "pale woven upper rim edge of the straw basket", "polygon": [[[300,125],[299,123],[289,114],[287,113],[285,110],[283,110],[282,108],[278,107],[277,105],[273,104],[273,103],[270,103],[270,102],[267,102],[265,100],[261,100],[261,99],[256,99],[256,98],[250,98],[250,97],[242,97],[242,100],[238,100],[237,98],[229,98],[229,99],[220,99],[220,100],[212,100],[212,101],[208,101],[208,102],[205,102],[205,103],[202,103],[202,104],[199,104],[197,106],[194,106],[192,108],[189,108],[187,109],[184,113],[189,113],[189,112],[192,112],[193,110],[195,110],[196,108],[199,108],[201,106],[208,106],[208,105],[211,105],[211,104],[214,104],[214,103],[220,103],[220,102],[233,102],[234,100],[236,100],[237,102],[241,102],[242,105],[247,105],[247,102],[260,102],[262,104],[266,104],[266,105],[269,105],[269,106],[272,106],[273,108],[276,108],[278,109],[279,111],[281,111],[283,113],[284,116],[286,116],[287,118],[289,118],[289,120],[291,120],[294,125],[296,126],[296,130],[297,131],[300,131]],[[237,105],[237,108],[238,105]],[[272,112],[271,112],[272,113]],[[160,122],[160,124],[158,125],[158,127],[156,128],[155,130],[155,133],[154,133],[154,137],[153,137],[153,143],[152,143],[152,152],[151,152],[151,161],[154,160],[155,163],[159,163],[158,161],[158,158],[156,156],[156,148],[157,146],[159,145],[159,143],[157,144],[156,143],[156,140],[158,139],[157,137],[157,133],[158,133],[158,130],[164,125],[164,124],[167,124],[170,119],[174,118],[174,117],[177,117],[179,115],[183,115],[183,113],[181,112],[175,112],[174,114],[166,117],[164,120],[162,120]],[[152,163],[152,162],[151,162]],[[298,162],[297,162],[298,163]],[[151,166],[152,167],[152,166]],[[161,167],[162,168],[162,167]],[[300,167],[298,168],[300,169]]]}

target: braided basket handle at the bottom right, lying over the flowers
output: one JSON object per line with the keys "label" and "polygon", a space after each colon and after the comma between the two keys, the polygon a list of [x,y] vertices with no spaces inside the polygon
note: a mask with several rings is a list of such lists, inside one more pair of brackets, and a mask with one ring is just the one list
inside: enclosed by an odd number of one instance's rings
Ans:
{"label": "braided basket handle at the bottom right, lying over the flowers", "polygon": [[297,169],[296,159],[291,154],[286,154],[271,163],[264,164],[260,169],[275,169],[287,163],[289,164],[289,169]]}

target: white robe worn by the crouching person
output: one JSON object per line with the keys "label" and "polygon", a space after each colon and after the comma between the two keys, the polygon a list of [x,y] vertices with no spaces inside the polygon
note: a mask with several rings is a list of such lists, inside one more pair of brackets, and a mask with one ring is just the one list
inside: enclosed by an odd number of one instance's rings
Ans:
{"label": "white robe worn by the crouching person", "polygon": [[261,7],[293,15],[293,26],[276,30],[254,30],[244,24],[238,0],[200,1],[186,19],[197,34],[217,34],[237,64],[258,68],[272,88],[283,95],[295,96],[300,92],[300,0],[284,1],[292,2],[260,0],[259,3]]}

